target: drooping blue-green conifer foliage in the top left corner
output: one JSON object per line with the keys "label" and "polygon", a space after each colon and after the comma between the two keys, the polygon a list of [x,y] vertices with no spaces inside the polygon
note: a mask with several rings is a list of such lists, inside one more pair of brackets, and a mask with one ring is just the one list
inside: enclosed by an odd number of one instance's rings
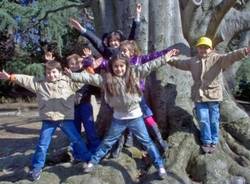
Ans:
{"label": "drooping blue-green conifer foliage in the top left corner", "polygon": [[[80,0],[42,0],[29,6],[2,0],[0,2],[0,31],[13,32],[18,29],[27,33],[36,28],[40,31],[41,41],[57,43],[57,52],[61,55],[66,45],[63,36],[71,28],[68,26],[70,17],[80,18],[84,15],[84,2]],[[20,22],[15,20],[20,16]]]}

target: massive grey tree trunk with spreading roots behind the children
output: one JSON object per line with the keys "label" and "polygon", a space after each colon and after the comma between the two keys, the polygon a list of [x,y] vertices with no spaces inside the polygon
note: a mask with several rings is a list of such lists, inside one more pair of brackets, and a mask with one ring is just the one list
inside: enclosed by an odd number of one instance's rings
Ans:
{"label": "massive grey tree trunk with spreading roots behind the children", "polygon": [[[112,9],[113,14],[107,9],[99,10],[100,14],[96,14],[96,16],[103,16],[102,22],[98,23],[98,28],[102,27],[100,25],[106,25],[108,20],[115,19],[108,27],[98,31],[118,28],[127,33],[128,25],[132,21],[131,12],[135,9],[134,1],[98,2],[104,4],[108,2],[110,7],[115,7]],[[220,7],[217,9],[221,8],[222,1],[142,0],[141,2],[143,16],[138,43],[145,53],[173,47],[181,50],[182,57],[190,56],[192,50],[190,46],[194,45],[195,40],[207,31],[213,35],[219,33],[220,22],[224,15],[227,16],[225,12],[216,15],[217,11],[213,11],[213,8],[218,5]],[[232,4],[227,4],[223,10],[228,11]],[[217,16],[221,19],[216,20],[219,22],[210,22],[211,17]],[[237,28],[248,26],[238,23],[240,26]],[[110,28],[111,24],[114,27]],[[208,29],[209,24],[214,25],[214,28]],[[250,122],[247,113],[239,108],[229,92],[224,90],[224,101],[221,104],[220,144],[215,154],[202,154],[199,148],[199,125],[193,115],[193,102],[190,100],[192,83],[189,72],[183,72],[168,65],[161,67],[147,79],[145,95],[164,137],[172,145],[167,152],[166,166],[169,177],[166,182],[227,183],[234,176],[239,175],[250,183]],[[99,113],[98,124],[110,121],[103,109]],[[148,179],[146,176],[141,180],[143,183],[149,183]]]}

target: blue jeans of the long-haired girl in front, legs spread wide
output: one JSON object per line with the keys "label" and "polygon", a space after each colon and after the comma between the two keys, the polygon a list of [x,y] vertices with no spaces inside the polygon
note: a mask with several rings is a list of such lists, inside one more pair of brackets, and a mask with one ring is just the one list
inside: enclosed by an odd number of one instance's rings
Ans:
{"label": "blue jeans of the long-haired girl in front, legs spread wide", "polygon": [[92,155],[90,162],[93,164],[98,164],[112,148],[112,145],[116,143],[126,128],[128,128],[136,136],[137,140],[140,141],[140,143],[142,143],[142,145],[146,148],[155,167],[163,167],[163,160],[159,154],[159,151],[148,135],[148,131],[142,117],[129,120],[118,120],[113,118],[107,136],[102,141],[96,153]]}

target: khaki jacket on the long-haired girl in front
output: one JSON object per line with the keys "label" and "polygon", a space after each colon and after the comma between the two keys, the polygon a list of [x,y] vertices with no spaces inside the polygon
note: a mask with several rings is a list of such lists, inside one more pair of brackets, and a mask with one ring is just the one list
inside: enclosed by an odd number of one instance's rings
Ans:
{"label": "khaki jacket on the long-haired girl in front", "polygon": [[[146,78],[151,71],[156,70],[163,64],[166,64],[168,60],[161,59],[151,61],[149,63],[133,66],[132,75],[139,86],[140,80]],[[105,85],[105,78],[99,74],[88,74],[87,72],[73,73],[71,75],[73,81],[84,82],[94,86],[101,87],[103,89]],[[128,113],[135,109],[140,108],[141,95],[126,93],[126,83],[123,77],[115,77],[117,88],[120,91],[120,95],[111,96],[104,91],[104,98],[107,104],[113,108],[115,112]]]}

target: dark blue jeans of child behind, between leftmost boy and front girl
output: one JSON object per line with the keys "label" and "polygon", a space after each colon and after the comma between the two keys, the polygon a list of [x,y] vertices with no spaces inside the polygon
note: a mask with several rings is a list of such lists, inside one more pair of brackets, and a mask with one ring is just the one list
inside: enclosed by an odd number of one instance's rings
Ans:
{"label": "dark blue jeans of child behind, between leftmost boy and front girl", "polygon": [[[75,106],[75,126],[79,134],[81,134],[82,123],[87,136],[88,148],[91,152],[95,152],[101,141],[96,133],[91,103],[82,103]],[[75,153],[74,146],[73,152]]]}

